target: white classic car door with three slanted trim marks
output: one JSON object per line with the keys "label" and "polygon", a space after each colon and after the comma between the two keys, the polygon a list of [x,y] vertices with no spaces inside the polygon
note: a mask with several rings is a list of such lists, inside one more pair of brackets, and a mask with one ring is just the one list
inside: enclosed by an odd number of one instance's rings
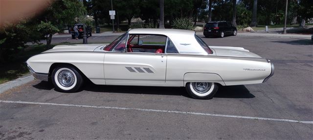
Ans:
{"label": "white classic car door with three slanted trim marks", "polygon": [[105,54],[106,84],[165,83],[167,55],[164,51],[163,53],[127,52],[126,45],[129,45],[129,37],[131,36],[125,36]]}

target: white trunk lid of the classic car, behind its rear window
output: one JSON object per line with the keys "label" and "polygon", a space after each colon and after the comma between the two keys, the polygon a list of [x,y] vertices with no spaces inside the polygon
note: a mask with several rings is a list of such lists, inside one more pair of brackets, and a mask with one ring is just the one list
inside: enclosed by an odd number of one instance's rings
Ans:
{"label": "white trunk lid of the classic car, behind its rear window", "polygon": [[210,46],[217,56],[262,58],[242,47]]}

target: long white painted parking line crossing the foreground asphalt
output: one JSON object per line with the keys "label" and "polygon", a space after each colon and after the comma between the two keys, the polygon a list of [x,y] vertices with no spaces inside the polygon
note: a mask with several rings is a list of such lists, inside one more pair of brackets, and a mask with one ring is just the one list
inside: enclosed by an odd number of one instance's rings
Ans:
{"label": "long white painted parking line crossing the foreground asphalt", "polygon": [[57,105],[57,106],[74,106],[74,107],[87,107],[87,108],[104,108],[104,109],[119,109],[119,110],[138,110],[147,112],[164,112],[164,113],[177,113],[177,114],[192,114],[202,116],[214,116],[214,117],[226,117],[226,118],[240,118],[240,119],[252,119],[252,120],[271,120],[271,121],[286,121],[313,124],[313,121],[303,120],[289,120],[289,119],[273,119],[273,118],[260,118],[260,117],[248,117],[248,116],[236,116],[236,115],[222,115],[222,114],[210,114],[199,112],[186,112],[186,111],[172,111],[172,110],[157,110],[157,109],[142,109],[142,108],[130,108],[130,107],[110,107],[110,106],[92,106],[92,105],[76,105],[76,104],[62,104],[62,103],[47,103],[47,102],[28,102],[28,101],[12,101],[12,100],[0,100],[5,103],[21,103],[21,104],[40,104],[40,105]]}

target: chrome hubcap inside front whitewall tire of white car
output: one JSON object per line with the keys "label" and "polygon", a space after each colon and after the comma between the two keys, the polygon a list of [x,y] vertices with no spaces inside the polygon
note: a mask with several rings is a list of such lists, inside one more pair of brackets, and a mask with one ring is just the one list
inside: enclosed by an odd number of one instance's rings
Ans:
{"label": "chrome hubcap inside front whitewall tire of white car", "polygon": [[62,86],[70,87],[75,82],[74,74],[68,70],[63,70],[58,75],[58,81]]}

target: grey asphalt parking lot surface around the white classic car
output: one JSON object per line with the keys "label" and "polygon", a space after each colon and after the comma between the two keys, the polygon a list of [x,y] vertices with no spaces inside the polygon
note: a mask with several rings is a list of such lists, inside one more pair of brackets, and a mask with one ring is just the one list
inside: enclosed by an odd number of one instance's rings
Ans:
{"label": "grey asphalt parking lot surface around the white classic car", "polygon": [[[89,43],[115,38],[99,36]],[[275,74],[262,84],[220,87],[212,100],[192,99],[179,87],[87,83],[78,93],[60,93],[34,80],[0,95],[0,139],[312,140],[313,41],[203,40],[268,58]]]}

